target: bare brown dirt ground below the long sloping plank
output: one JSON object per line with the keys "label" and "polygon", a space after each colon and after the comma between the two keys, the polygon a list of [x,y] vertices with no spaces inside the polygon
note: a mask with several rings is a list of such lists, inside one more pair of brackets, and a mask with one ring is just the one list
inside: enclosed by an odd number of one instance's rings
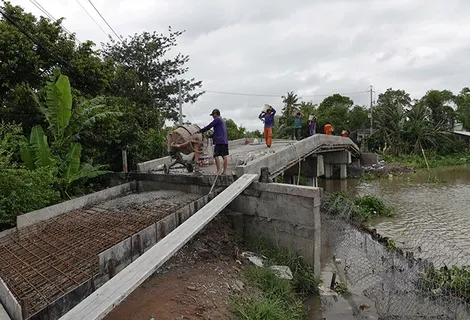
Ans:
{"label": "bare brown dirt ground below the long sloping plank", "polygon": [[232,319],[230,295],[245,286],[238,254],[231,222],[220,215],[105,319]]}

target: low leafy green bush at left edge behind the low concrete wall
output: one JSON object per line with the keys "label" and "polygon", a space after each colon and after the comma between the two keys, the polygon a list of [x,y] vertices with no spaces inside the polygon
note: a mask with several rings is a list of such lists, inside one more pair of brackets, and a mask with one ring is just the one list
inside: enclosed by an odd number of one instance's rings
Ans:
{"label": "low leafy green bush at left edge behind the low concrete wall", "polygon": [[16,216],[60,201],[49,169],[0,169],[0,231],[14,227]]}

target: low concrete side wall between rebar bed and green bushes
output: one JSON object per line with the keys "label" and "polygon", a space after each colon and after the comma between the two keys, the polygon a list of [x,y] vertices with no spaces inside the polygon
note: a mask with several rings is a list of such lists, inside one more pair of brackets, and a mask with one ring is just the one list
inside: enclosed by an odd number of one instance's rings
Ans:
{"label": "low concrete side wall between rebar bed and green bushes", "polygon": [[46,207],[40,210],[32,211],[16,217],[16,226],[18,229],[30,226],[32,224],[44,221],[63,213],[93,206],[105,200],[117,198],[136,190],[136,182],[129,182],[126,184],[118,185],[112,188],[101,190],[80,198],[72,199],[56,205]]}

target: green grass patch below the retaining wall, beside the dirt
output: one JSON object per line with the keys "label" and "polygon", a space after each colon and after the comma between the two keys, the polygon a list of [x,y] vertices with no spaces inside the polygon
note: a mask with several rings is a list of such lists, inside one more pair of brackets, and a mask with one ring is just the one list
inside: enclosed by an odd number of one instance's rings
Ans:
{"label": "green grass patch below the retaining wall, beside the dirt", "polygon": [[[267,257],[262,268],[249,267],[246,270],[248,284],[260,290],[259,295],[234,297],[231,310],[239,319],[306,319],[302,299],[317,293],[318,280],[312,267],[296,253],[287,249],[275,249],[266,239],[257,239],[248,247],[259,255]],[[288,266],[292,280],[281,279],[269,269],[270,265]]]}

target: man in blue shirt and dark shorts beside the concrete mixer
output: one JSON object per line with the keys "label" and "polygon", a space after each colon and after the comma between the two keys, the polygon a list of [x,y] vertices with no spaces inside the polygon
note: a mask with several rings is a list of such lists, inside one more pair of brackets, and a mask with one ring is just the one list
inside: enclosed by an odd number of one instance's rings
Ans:
{"label": "man in blue shirt and dark shorts beside the concrete mixer", "polygon": [[222,157],[224,161],[224,169],[222,175],[227,174],[228,167],[228,139],[227,139],[227,127],[225,121],[220,117],[219,109],[212,110],[210,116],[214,120],[204,128],[200,129],[197,133],[204,133],[214,128],[214,134],[212,135],[212,142],[214,143],[214,159],[215,166],[217,168],[217,174],[220,173],[220,160]]}

